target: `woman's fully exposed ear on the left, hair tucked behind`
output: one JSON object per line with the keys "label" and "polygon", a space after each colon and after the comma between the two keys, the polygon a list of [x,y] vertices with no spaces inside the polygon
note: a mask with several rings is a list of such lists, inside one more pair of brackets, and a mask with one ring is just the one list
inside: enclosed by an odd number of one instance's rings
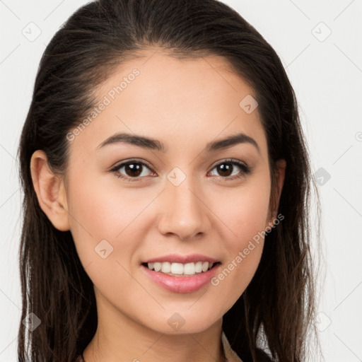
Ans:
{"label": "woman's fully exposed ear on the left, hair tucked behind", "polygon": [[44,151],[37,150],[30,160],[30,172],[40,208],[54,228],[70,230],[64,178],[52,173]]}

